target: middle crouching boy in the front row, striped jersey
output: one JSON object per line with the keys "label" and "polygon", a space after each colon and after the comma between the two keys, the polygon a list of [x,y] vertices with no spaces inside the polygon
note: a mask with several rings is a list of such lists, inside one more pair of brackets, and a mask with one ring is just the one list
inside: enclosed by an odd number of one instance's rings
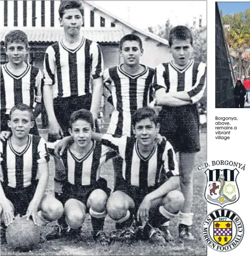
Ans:
{"label": "middle crouching boy in the front row, striped jersey", "polygon": [[[54,239],[62,235],[73,236],[85,240],[81,234],[86,213],[91,215],[93,239],[103,245],[110,243],[108,236],[102,231],[105,222],[106,201],[110,195],[106,179],[100,177],[100,167],[114,154],[110,149],[94,141],[95,131],[93,117],[89,110],[81,109],[70,116],[69,133],[72,144],[63,152],[61,159],[65,166],[65,177],[62,178],[62,202],[64,204],[66,222],[69,231],[60,225],[57,233],[52,230],[46,236]],[[48,143],[54,148],[56,143]],[[51,152],[53,154],[53,151]]]}

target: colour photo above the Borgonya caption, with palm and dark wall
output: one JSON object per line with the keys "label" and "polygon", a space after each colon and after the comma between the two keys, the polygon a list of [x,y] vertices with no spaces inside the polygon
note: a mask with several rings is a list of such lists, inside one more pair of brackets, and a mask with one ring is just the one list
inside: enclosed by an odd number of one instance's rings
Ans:
{"label": "colour photo above the Borgonya caption, with palm and dark wall", "polygon": [[215,4],[215,107],[250,108],[250,4]]}

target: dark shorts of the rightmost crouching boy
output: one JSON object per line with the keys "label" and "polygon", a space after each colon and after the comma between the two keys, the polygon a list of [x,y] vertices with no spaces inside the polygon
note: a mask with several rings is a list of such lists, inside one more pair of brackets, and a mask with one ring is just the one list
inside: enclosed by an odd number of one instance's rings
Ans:
{"label": "dark shorts of the rightmost crouching boy", "polygon": [[148,195],[148,193],[156,189],[157,188],[155,186],[145,187],[143,189],[138,188],[137,186],[130,185],[124,179],[120,179],[119,182],[117,182],[114,191],[122,191],[126,195],[130,196],[133,199],[135,209],[137,210],[140,206],[140,203],[142,203],[144,197]]}

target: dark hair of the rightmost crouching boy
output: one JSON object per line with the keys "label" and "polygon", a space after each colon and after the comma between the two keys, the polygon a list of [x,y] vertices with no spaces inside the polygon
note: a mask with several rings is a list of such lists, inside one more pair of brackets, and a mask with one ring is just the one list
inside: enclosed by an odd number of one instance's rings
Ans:
{"label": "dark hair of the rightmost crouching boy", "polygon": [[146,118],[149,118],[155,125],[159,123],[155,110],[150,107],[144,107],[137,109],[132,115],[132,126],[135,127],[136,123]]}

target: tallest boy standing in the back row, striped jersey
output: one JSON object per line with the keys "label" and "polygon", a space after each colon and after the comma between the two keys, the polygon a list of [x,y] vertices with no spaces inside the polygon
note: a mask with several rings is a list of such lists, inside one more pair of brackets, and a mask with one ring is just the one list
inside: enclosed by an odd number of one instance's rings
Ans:
{"label": "tallest boy standing in the back row, striped jersey", "polygon": [[[102,94],[101,49],[80,33],[84,22],[81,1],[61,1],[59,16],[63,39],[49,46],[44,58],[43,97],[49,121],[48,141],[69,135],[69,117],[76,110],[91,110],[96,120]],[[54,160],[57,176],[63,167],[57,158]],[[60,184],[55,182],[55,188],[56,198],[60,199]],[[59,222],[66,224],[63,218]]]}

